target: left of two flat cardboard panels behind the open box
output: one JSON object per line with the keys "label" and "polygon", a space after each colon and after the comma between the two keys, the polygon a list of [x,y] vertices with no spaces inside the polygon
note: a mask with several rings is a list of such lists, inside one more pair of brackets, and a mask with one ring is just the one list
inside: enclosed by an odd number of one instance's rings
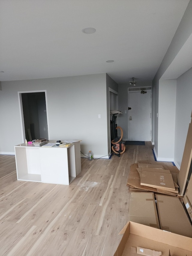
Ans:
{"label": "left of two flat cardboard panels behind the open box", "polygon": [[159,228],[154,193],[131,192],[130,221]]}

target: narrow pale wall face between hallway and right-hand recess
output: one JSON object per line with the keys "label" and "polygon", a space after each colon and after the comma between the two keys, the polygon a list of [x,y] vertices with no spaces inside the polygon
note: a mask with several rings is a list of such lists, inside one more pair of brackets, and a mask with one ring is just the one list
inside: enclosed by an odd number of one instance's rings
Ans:
{"label": "narrow pale wall face between hallway and right-hand recess", "polygon": [[158,161],[174,160],[176,79],[159,81]]}

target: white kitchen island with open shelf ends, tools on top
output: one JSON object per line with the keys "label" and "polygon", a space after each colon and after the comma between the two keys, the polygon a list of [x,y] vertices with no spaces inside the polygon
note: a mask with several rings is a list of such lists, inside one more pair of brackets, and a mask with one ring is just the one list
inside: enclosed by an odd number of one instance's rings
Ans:
{"label": "white kitchen island with open shelf ends, tools on top", "polygon": [[15,146],[15,159],[18,180],[69,185],[81,172],[80,141],[67,147],[22,143]]}

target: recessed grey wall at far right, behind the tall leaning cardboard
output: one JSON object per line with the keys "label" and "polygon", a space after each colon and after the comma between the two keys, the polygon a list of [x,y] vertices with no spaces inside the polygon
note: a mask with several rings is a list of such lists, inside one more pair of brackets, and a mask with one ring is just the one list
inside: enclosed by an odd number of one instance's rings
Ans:
{"label": "recessed grey wall at far right, behind the tall leaning cardboard", "polygon": [[177,79],[174,163],[179,169],[181,167],[192,110],[191,95],[192,68]]}

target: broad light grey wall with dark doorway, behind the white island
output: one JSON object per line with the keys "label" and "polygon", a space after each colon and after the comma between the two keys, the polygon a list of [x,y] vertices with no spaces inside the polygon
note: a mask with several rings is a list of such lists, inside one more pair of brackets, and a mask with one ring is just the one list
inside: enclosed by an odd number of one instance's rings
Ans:
{"label": "broad light grey wall with dark doorway, behind the white island", "polygon": [[[46,90],[49,140],[78,139],[81,151],[108,155],[106,73],[2,82],[0,154],[23,141],[18,92]],[[98,118],[101,114],[101,118]]]}

